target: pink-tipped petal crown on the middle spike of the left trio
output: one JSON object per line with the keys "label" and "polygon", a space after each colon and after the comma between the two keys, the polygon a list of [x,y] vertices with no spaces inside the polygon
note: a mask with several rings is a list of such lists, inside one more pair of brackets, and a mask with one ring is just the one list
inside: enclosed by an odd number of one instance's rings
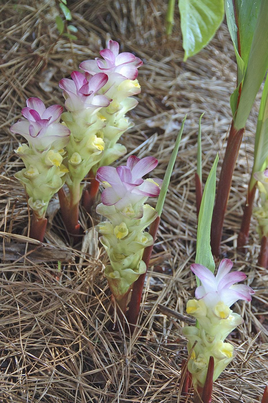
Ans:
{"label": "pink-tipped petal crown on the middle spike of the left trio", "polygon": [[110,104],[110,99],[105,95],[98,95],[98,91],[107,83],[108,76],[98,73],[92,76],[89,73],[83,75],[80,71],[73,71],[72,80],[63,78],[59,86],[62,88],[63,96],[66,99],[65,108],[71,112],[84,108],[106,107]]}

